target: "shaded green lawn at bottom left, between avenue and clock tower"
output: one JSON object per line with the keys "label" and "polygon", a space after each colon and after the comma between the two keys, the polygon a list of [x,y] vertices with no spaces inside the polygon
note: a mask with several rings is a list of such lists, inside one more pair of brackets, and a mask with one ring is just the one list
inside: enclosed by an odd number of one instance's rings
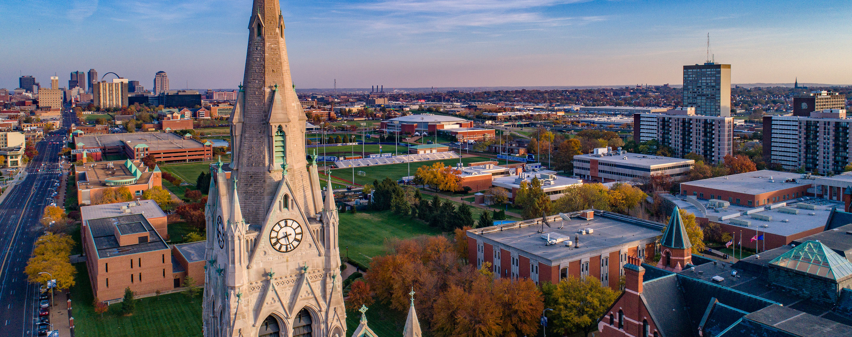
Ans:
{"label": "shaded green lawn at bottom left, between avenue and clock tower", "polygon": [[188,299],[183,293],[147,297],[136,303],[131,316],[118,311],[121,304],[109,307],[103,317],[92,306],[92,288],[85,263],[77,268],[77,284],[71,289],[75,335],[81,336],[199,336],[201,335],[201,294]]}

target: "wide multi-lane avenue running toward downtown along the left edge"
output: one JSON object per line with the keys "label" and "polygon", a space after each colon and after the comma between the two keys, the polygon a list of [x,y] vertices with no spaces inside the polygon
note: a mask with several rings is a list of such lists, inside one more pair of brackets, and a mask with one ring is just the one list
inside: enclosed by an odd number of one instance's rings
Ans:
{"label": "wide multi-lane avenue running toward downtown along the left edge", "polygon": [[[72,115],[72,114],[71,114]],[[63,125],[72,118],[63,115]],[[67,122],[67,123],[66,123]],[[36,144],[38,155],[26,168],[26,178],[0,203],[0,335],[35,336],[38,285],[26,281],[24,268],[37,237],[44,233],[42,210],[51,203],[55,183],[63,178],[59,152],[65,129],[48,134]]]}

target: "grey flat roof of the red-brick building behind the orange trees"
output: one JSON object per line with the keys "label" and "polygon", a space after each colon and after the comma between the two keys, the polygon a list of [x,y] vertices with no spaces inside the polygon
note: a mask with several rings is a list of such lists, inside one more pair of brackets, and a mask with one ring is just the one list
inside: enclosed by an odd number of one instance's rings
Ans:
{"label": "grey flat roof of the red-brick building behind the orange trees", "polygon": [[[533,254],[542,260],[550,260],[551,266],[554,266],[577,260],[579,255],[609,253],[608,248],[613,246],[642,240],[653,241],[663,234],[665,228],[665,225],[660,223],[602,211],[595,211],[591,220],[573,216],[571,220],[566,221],[556,215],[548,217],[548,221],[550,227],[544,226],[544,234],[538,232],[542,229],[539,218],[476,228],[468,231],[468,237],[482,238],[484,242],[497,247],[511,247]],[[573,244],[566,247],[565,242],[545,245],[545,239],[542,237],[550,233],[551,239],[564,236],[574,241],[574,236],[586,228],[593,231],[591,234],[579,235],[579,248],[574,248]]]}

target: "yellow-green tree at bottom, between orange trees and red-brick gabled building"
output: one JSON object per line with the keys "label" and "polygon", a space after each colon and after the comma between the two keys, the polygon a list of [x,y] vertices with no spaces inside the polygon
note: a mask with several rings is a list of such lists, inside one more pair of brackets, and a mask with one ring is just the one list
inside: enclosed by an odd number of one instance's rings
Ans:
{"label": "yellow-green tree at bottom, between orange trees and red-brick gabled building", "polygon": [[560,283],[544,283],[542,292],[544,306],[553,309],[549,317],[551,329],[561,334],[583,332],[584,336],[597,328],[597,319],[619,296],[596,277],[568,277]]}

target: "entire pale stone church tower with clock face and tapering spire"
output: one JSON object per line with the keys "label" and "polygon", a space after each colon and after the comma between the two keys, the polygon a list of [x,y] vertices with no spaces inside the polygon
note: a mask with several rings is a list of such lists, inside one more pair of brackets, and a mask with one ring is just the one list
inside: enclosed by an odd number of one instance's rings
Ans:
{"label": "entire pale stone church tower with clock face and tapering spire", "polygon": [[[337,209],[305,153],[279,0],[255,0],[231,163],[210,165],[204,336],[343,337]],[[327,186],[331,186],[328,184]]]}

